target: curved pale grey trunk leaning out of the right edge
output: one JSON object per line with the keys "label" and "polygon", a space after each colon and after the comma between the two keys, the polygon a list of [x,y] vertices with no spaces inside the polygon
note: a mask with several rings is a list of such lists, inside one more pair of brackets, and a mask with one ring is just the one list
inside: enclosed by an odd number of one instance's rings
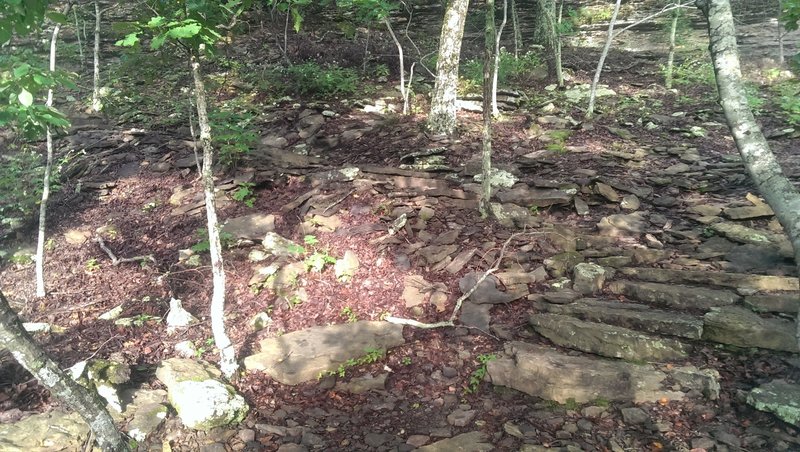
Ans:
{"label": "curved pale grey trunk leaning out of the right edge", "polygon": [[[800,193],[783,174],[747,104],[730,2],[698,0],[695,4],[703,11],[708,22],[709,50],[717,89],[736,147],[750,179],[789,236],[794,247],[795,263],[800,265]],[[800,342],[800,313],[797,325]]]}

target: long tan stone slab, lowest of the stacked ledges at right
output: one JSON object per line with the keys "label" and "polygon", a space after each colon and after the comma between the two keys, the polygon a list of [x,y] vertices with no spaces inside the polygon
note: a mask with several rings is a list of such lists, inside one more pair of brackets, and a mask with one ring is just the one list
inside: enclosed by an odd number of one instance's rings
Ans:
{"label": "long tan stone slab, lowest of the stacked ledges at right", "polygon": [[[495,385],[559,403],[566,403],[569,399],[587,403],[601,398],[640,403],[686,397],[682,390],[672,388],[674,381],[667,382],[670,374],[655,369],[653,365],[570,356],[525,342],[507,343],[505,355],[489,361],[487,368]],[[713,371],[684,367],[681,375],[684,381],[691,381],[685,388],[681,385],[681,389],[697,389],[705,385],[708,390],[699,390],[707,393],[707,397],[719,394],[719,383]],[[670,388],[665,388],[665,384]]]}

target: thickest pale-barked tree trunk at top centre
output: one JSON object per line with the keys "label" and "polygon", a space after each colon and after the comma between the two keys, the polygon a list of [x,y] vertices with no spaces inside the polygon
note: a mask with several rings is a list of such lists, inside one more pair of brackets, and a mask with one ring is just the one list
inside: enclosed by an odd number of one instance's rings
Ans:
{"label": "thickest pale-barked tree trunk at top centre", "polygon": [[436,83],[431,93],[428,130],[452,134],[456,129],[456,97],[458,95],[458,61],[469,0],[451,0],[444,13],[436,61]]}

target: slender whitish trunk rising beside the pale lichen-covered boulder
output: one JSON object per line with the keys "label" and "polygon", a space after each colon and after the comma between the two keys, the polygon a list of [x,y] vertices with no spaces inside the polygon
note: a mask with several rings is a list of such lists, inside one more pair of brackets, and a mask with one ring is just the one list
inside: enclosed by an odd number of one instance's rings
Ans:
{"label": "slender whitish trunk rising beside the pale lichen-covered boulder", "polygon": [[[203,46],[201,45],[201,52]],[[231,378],[239,368],[233,344],[225,333],[225,268],[222,262],[222,244],[219,240],[219,221],[214,193],[214,148],[211,146],[211,125],[208,122],[206,107],[206,89],[200,61],[192,53],[192,78],[194,79],[195,104],[197,106],[197,122],[200,126],[200,146],[203,148],[203,193],[206,202],[206,218],[208,220],[208,243],[211,254],[211,278],[213,292],[211,295],[211,331],[214,343],[219,349],[219,367],[226,378]]]}

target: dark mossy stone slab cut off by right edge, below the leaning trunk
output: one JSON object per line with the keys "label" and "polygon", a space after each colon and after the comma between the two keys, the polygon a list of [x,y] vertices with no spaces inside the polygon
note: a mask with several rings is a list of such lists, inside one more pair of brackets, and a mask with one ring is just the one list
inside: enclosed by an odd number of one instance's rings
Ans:
{"label": "dark mossy stone slab cut off by right edge, below the leaning trunk", "polygon": [[703,339],[737,347],[758,347],[797,353],[795,323],[762,318],[738,306],[712,309],[703,317]]}

